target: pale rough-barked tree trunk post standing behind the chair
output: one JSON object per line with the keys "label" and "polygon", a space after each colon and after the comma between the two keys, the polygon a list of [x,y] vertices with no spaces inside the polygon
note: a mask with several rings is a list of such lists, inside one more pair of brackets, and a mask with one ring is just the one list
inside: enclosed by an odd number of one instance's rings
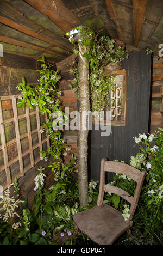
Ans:
{"label": "pale rough-barked tree trunk post standing behind the chair", "polygon": [[[83,57],[85,50],[79,45],[79,113],[80,129],[78,133],[78,182],[79,182],[79,200],[80,206],[88,204],[88,179],[87,179],[87,137],[88,120],[86,121],[86,130],[83,129],[82,113],[89,112],[89,62]],[[86,118],[86,116],[85,116]]]}

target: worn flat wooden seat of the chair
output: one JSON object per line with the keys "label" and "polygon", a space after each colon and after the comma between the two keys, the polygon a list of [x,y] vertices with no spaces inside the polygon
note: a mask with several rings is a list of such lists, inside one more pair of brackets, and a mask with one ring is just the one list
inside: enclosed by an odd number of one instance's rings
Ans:
{"label": "worn flat wooden seat of the chair", "polygon": [[110,205],[94,206],[73,216],[78,228],[98,245],[112,245],[133,222],[124,221],[122,213]]}

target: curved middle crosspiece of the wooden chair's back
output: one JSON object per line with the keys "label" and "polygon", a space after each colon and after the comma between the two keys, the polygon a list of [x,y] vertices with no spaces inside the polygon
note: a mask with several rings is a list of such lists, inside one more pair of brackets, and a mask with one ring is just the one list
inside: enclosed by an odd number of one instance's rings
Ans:
{"label": "curved middle crosspiece of the wooden chair's back", "polygon": [[104,185],[104,191],[117,194],[118,196],[123,197],[125,200],[127,200],[130,204],[133,203],[133,197],[131,197],[128,192],[122,190],[119,187]]}

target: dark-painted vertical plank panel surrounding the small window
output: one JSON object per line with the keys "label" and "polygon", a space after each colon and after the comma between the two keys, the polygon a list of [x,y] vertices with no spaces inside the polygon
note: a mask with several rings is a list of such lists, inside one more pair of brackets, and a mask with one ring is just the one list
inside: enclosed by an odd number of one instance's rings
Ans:
{"label": "dark-painted vertical plank panel surrounding the small window", "polygon": [[[151,54],[146,51],[130,52],[122,66],[127,71],[127,116],[126,126],[111,126],[111,135],[101,137],[101,131],[92,130],[89,136],[89,175],[99,180],[100,163],[108,160],[123,160],[139,152],[133,137],[148,132],[149,97],[151,87]],[[112,174],[108,181],[112,180]]]}

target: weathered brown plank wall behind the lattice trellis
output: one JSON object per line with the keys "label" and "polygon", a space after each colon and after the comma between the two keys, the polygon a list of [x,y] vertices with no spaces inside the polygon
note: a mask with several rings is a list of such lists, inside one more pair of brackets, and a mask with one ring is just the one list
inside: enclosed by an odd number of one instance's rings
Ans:
{"label": "weathered brown plank wall behind the lattice trellis", "polygon": [[[0,96],[8,96],[8,95],[17,95],[20,94],[18,89],[16,88],[18,82],[22,82],[22,76],[24,76],[27,84],[31,86],[35,86],[37,84],[37,78],[39,78],[37,62],[33,58],[28,58],[25,56],[20,56],[12,53],[4,52],[3,57],[0,58]],[[14,161],[18,157],[17,152],[17,144],[16,144],[16,133],[14,129],[14,122],[11,121],[8,123],[8,119],[12,119],[13,115],[13,107],[12,107],[12,100],[2,100],[2,115],[3,115],[3,123],[4,123],[4,133],[5,133],[5,140],[7,142],[7,153],[8,153],[8,160],[9,162],[13,162],[10,166],[11,169],[11,178],[13,176],[18,177],[18,172],[20,172],[20,164],[19,161]],[[30,112],[34,111],[34,109],[30,109]],[[17,108],[17,115],[24,114],[22,108]],[[30,129],[32,131],[36,130],[36,132],[32,132],[31,134],[31,141],[30,144],[36,145],[39,143],[39,138],[37,136],[37,119],[36,115],[29,115],[30,120]],[[39,159],[39,148],[35,147],[33,150],[33,161],[37,162],[34,168],[29,167],[31,163],[31,155],[25,154],[27,150],[29,150],[29,143],[28,137],[24,136],[27,134],[27,123],[29,125],[29,120],[27,120],[26,116],[22,119],[18,119],[18,129],[20,131],[20,141],[21,141],[21,151],[22,151],[22,162],[25,170],[24,176],[18,179],[18,185],[21,188],[21,198],[28,197],[29,207],[32,207],[33,198],[35,195],[35,191],[33,190],[34,178],[38,174],[37,169],[42,166],[46,170],[46,187],[51,186],[53,182],[53,173],[51,169],[48,168],[49,161],[36,161]],[[45,117],[40,114],[40,125],[43,125],[43,121],[45,121]],[[45,135],[41,134],[41,139],[45,139]],[[9,143],[9,141],[13,141],[13,143]],[[1,141],[0,141],[1,144]],[[10,145],[8,145],[10,144]],[[43,150],[47,148],[47,142],[42,144]],[[24,155],[24,156],[23,156]],[[4,165],[4,159],[2,154],[2,147],[0,145],[0,167]],[[27,168],[28,167],[28,168]],[[28,171],[26,171],[28,169]],[[7,177],[5,175],[5,170],[0,168],[0,185],[4,184],[7,181]]]}

